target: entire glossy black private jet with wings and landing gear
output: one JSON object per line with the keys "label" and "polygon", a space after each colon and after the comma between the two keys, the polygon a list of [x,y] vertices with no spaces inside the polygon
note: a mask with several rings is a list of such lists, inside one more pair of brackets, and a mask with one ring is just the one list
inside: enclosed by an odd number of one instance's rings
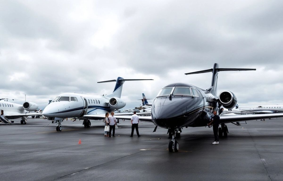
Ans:
{"label": "entire glossy black private jet with wings and landing gear", "polygon": [[[172,139],[168,144],[170,152],[178,151],[179,144],[175,137],[180,136],[181,128],[183,127],[198,127],[207,126],[210,122],[213,110],[218,110],[222,107],[232,109],[237,104],[237,98],[231,91],[222,91],[217,96],[217,77],[219,71],[241,71],[241,70],[256,70],[244,68],[218,68],[215,63],[212,69],[191,72],[188,74],[199,74],[212,72],[211,87],[201,89],[199,87],[186,83],[172,83],[160,90],[155,100],[152,103],[151,117],[140,117],[140,120],[151,121],[157,126],[168,129]],[[101,119],[100,115],[85,115],[89,119]],[[120,119],[130,120],[130,116],[115,116]],[[219,132],[222,135],[227,135],[228,128],[226,123],[255,120],[263,118],[283,117],[283,113],[277,114],[261,114],[261,115],[235,115],[235,116],[220,116],[221,127]]]}

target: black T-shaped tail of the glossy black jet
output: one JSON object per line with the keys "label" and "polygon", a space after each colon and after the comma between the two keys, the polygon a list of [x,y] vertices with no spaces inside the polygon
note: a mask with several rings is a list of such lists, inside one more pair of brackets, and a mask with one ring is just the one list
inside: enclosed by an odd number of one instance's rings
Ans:
{"label": "black T-shaped tail of the glossy black jet", "polygon": [[212,72],[211,87],[209,87],[207,91],[211,92],[214,96],[216,96],[218,72],[220,71],[242,71],[242,70],[246,71],[246,70],[256,70],[256,69],[255,68],[218,68],[218,63],[215,63],[213,68],[211,69],[201,70],[197,72],[189,72],[189,73],[186,73],[185,75]]}

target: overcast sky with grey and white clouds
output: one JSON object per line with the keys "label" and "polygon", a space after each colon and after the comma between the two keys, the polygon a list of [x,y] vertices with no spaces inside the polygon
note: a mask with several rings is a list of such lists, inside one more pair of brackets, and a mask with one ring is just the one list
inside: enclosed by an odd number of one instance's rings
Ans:
{"label": "overcast sky with grey and white clouds", "polygon": [[170,83],[207,89],[240,105],[283,104],[283,1],[14,1],[0,0],[0,97],[38,103],[63,92],[109,94],[126,82],[126,108],[155,98]]}

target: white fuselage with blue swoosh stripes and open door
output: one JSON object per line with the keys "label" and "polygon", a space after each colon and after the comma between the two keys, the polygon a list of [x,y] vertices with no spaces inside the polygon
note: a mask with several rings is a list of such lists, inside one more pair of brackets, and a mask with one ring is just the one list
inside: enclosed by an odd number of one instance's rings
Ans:
{"label": "white fuselage with blue swoosh stripes and open door", "polygon": [[[67,97],[69,97],[69,99]],[[115,110],[115,108],[109,105],[111,97],[63,93],[56,98],[44,108],[42,112],[44,116],[58,118],[80,117],[85,114],[105,114],[106,112]],[[63,98],[65,98],[65,100],[63,100]]]}

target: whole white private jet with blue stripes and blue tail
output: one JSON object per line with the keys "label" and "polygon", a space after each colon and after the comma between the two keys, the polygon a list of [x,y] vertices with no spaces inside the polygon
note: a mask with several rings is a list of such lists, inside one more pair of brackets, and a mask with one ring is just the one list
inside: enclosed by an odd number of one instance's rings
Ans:
{"label": "whole white private jet with blue stripes and blue tail", "polygon": [[[63,93],[58,95],[50,104],[43,110],[43,115],[54,120],[54,118],[68,118],[77,117],[84,119],[83,125],[87,128],[91,126],[91,122],[83,115],[105,115],[106,112],[121,109],[126,105],[126,102],[121,99],[123,83],[125,81],[136,80],[153,80],[153,79],[123,79],[118,77],[117,80],[102,81],[103,82],[116,82],[114,91],[108,95],[90,95],[90,94],[76,94],[76,93]],[[123,114],[123,113],[122,113]],[[56,121],[58,126],[57,131],[62,131],[61,122]]]}

